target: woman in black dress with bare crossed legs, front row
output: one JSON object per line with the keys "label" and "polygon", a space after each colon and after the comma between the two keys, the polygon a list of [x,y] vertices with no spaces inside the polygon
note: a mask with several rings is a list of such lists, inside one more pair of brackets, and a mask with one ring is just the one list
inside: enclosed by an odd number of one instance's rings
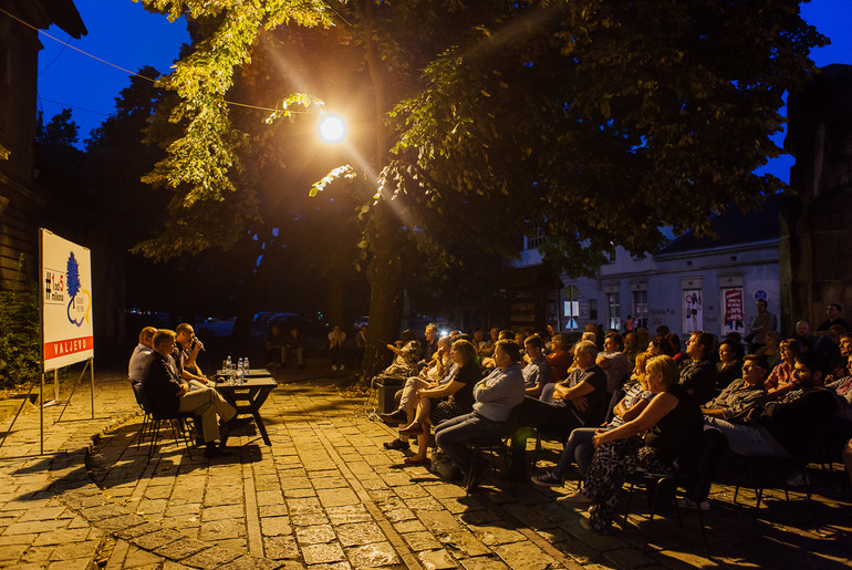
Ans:
{"label": "woman in black dress with bare crossed legs, front row", "polygon": [[476,363],[476,349],[470,341],[458,340],[453,343],[450,354],[453,362],[458,364],[456,375],[446,384],[418,390],[419,403],[414,422],[399,429],[402,435],[417,436],[417,453],[406,457],[406,464],[428,463],[426,449],[429,444],[429,425],[437,426],[474,410],[474,385],[482,380]]}

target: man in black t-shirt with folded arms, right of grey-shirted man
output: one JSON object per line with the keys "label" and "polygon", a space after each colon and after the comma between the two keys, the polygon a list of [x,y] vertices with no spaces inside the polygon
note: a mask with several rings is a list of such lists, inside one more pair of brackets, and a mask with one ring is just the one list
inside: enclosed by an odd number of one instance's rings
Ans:
{"label": "man in black t-shirt with folded arms, right of grey-shirted man", "polygon": [[610,396],[606,394],[606,375],[594,363],[598,346],[591,341],[580,341],[574,346],[576,367],[553,387],[553,403],[532,397],[523,401],[518,425],[512,436],[511,477],[518,480],[527,476],[526,427],[534,427],[544,434],[570,434],[583,426],[599,426],[606,416]]}

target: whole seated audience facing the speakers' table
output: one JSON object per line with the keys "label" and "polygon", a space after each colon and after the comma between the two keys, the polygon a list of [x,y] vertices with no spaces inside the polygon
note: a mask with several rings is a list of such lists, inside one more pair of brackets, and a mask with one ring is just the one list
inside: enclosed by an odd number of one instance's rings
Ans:
{"label": "whole seated audience facing the speakers' table", "polygon": [[[427,341],[436,336],[433,327]],[[511,436],[507,476],[523,480],[533,429],[559,438],[565,447],[558,465],[532,481],[561,486],[575,463],[582,481],[565,500],[591,505],[581,524],[607,532],[626,474],[696,474],[705,431],[724,436],[737,454],[789,459],[803,458],[815,437],[831,436],[849,466],[852,336],[840,332],[827,338],[842,365],[812,344],[788,339],[779,343],[775,366],[766,350],[739,356],[736,339],[719,343],[703,331],[693,332],[684,353],[674,355],[664,353],[659,336],[628,355],[617,332],[606,334],[599,350],[591,331],[573,346],[560,334],[548,343],[532,334],[522,349],[512,331],[498,332],[490,345],[455,331],[434,339],[435,351],[427,349],[419,361],[420,343],[409,334],[399,346],[388,345],[395,359],[385,374],[405,382],[399,407],[381,414],[401,426],[398,438],[385,447],[408,449],[408,437],[416,436],[417,452],[404,463],[429,463],[434,426],[436,446],[470,489],[484,462],[472,456],[469,443]],[[792,473],[791,479],[802,476]],[[708,508],[708,491],[709,485],[696,487],[684,502]]]}

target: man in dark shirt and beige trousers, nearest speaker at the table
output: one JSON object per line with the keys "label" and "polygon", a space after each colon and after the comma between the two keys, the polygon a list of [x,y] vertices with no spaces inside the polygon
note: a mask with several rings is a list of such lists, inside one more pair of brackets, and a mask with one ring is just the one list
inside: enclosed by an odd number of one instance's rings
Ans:
{"label": "man in dark shirt and beige trousers, nearest speaker at the table", "polygon": [[[175,349],[175,333],[159,330],[154,334],[154,353],[147,362],[142,380],[142,397],[146,408],[155,415],[174,416],[190,412],[201,418],[205,457],[228,455],[224,449],[228,432],[249,422],[238,421],[237,411],[215,390],[189,391],[189,385],[177,373],[169,354]],[[217,422],[217,416],[221,418]],[[221,433],[220,433],[221,429]],[[220,447],[216,441],[221,438]]]}

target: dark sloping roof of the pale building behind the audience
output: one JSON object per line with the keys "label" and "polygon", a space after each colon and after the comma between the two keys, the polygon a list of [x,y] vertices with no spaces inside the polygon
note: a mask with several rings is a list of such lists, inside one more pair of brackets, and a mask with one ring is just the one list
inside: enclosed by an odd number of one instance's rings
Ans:
{"label": "dark sloping roof of the pale building behind the audience", "polygon": [[780,203],[781,195],[776,194],[769,197],[759,210],[742,214],[739,208],[731,207],[710,221],[710,227],[717,237],[699,238],[694,230],[689,230],[661,249],[657,255],[778,240],[780,236],[778,221]]}

